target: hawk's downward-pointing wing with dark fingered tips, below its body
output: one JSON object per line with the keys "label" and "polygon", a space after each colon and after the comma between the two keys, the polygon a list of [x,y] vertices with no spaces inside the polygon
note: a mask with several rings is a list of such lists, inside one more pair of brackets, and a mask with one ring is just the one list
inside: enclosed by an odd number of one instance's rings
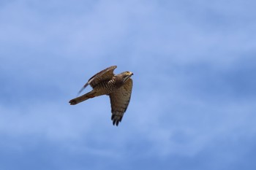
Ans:
{"label": "hawk's downward-pointing wing with dark fingered tips, below its body", "polygon": [[110,103],[111,103],[111,112],[113,120],[113,125],[118,125],[121,122],[121,119],[124,115],[124,112],[127,110],[129,105],[129,100],[132,94],[132,79],[129,78],[127,82],[121,88],[118,88],[113,93],[110,93]]}

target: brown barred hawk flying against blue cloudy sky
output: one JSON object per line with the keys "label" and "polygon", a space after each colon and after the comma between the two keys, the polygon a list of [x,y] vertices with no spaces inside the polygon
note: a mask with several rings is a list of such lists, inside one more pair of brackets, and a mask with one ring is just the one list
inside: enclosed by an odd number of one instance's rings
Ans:
{"label": "brown barred hawk flying against blue cloudy sky", "polygon": [[93,77],[91,77],[83,88],[78,92],[80,94],[88,85],[91,85],[92,90],[89,93],[83,94],[69,101],[70,105],[79,104],[89,98],[107,95],[110,97],[111,105],[111,120],[113,125],[118,126],[121,122],[124,112],[127,111],[129,101],[132,94],[132,72],[122,72],[113,74],[117,66],[110,66],[103,69]]}

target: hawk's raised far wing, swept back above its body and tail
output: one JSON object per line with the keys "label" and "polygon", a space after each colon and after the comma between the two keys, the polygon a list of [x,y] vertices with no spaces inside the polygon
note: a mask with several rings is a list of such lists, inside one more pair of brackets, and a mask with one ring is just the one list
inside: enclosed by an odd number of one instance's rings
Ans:
{"label": "hawk's raised far wing, swept back above its body and tail", "polygon": [[116,69],[117,66],[110,66],[107,69],[102,70],[101,72],[98,72],[93,77],[91,77],[88,82],[86,82],[85,85],[83,85],[83,88],[78,92],[81,93],[83,89],[87,87],[87,85],[91,85],[91,88],[94,88],[96,85],[99,84],[99,82],[105,81],[105,80],[111,80],[114,76],[113,72],[114,69]]}

